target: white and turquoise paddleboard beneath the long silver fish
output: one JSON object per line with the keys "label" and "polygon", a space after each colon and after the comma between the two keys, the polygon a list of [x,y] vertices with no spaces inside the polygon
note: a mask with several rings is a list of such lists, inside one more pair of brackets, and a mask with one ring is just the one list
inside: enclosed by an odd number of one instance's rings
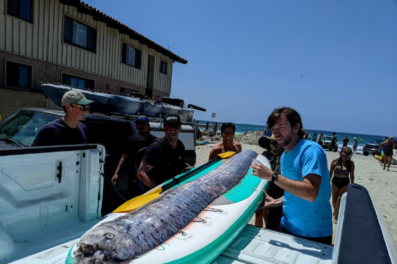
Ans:
{"label": "white and turquoise paddleboard beneath the long silver fish", "polygon": [[[262,155],[258,155],[256,161],[271,168],[269,161]],[[210,172],[221,165],[222,162],[224,160],[218,161],[180,184]],[[247,225],[262,202],[264,197],[263,190],[268,188],[268,184],[267,180],[253,176],[252,168],[250,168],[238,184],[210,203],[206,209],[198,214],[197,218],[178,233],[156,248],[135,258],[123,261],[123,263],[201,264],[212,262]],[[125,214],[112,213],[94,227]],[[77,250],[77,243],[70,249],[66,264],[75,263],[73,261],[73,252]]]}

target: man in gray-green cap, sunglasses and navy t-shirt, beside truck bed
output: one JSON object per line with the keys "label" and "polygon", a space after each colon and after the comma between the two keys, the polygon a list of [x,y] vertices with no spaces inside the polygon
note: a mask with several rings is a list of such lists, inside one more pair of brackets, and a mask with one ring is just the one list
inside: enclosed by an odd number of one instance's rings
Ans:
{"label": "man in gray-green cap, sunglasses and navy t-shirt, beside truck bed", "polygon": [[78,91],[68,91],[62,97],[65,116],[43,126],[32,143],[32,147],[54,145],[77,145],[87,143],[85,114],[92,100]]}

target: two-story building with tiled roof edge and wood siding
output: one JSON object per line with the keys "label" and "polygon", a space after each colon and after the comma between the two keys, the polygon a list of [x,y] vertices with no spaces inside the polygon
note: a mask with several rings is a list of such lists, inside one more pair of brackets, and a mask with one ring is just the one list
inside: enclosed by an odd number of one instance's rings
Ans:
{"label": "two-story building with tiled roof edge and wood siding", "polygon": [[0,115],[54,107],[42,82],[151,98],[187,60],[79,0],[0,0]]}

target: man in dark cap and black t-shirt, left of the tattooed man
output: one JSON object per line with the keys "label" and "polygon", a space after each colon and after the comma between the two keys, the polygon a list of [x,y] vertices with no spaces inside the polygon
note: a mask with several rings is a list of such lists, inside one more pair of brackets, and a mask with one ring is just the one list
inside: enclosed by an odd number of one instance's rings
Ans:
{"label": "man in dark cap and black t-shirt, left of the tattooed man", "polygon": [[136,171],[138,166],[141,164],[147,147],[156,139],[155,136],[150,134],[149,119],[145,115],[139,116],[137,120],[135,120],[135,125],[137,126],[138,134],[128,138],[124,155],[121,157],[119,166],[117,167],[116,172],[114,172],[114,176],[112,178],[112,184],[116,185],[117,179],[119,178],[119,170],[125,162],[127,162],[130,165],[128,191],[132,196],[141,195],[147,191],[145,185],[143,185],[136,177]]}

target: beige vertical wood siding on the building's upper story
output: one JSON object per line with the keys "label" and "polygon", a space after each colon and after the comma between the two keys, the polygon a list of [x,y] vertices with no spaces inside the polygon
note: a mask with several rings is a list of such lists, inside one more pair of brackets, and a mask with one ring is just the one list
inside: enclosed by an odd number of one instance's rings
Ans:
{"label": "beige vertical wood siding on the building's upper story", "polygon": [[[77,12],[59,0],[33,0],[33,22],[6,13],[6,0],[0,0],[0,50],[72,67],[87,73],[114,78],[146,87],[148,55],[155,58],[154,90],[171,93],[172,59],[120,34],[117,29]],[[96,52],[63,42],[64,17],[96,29]],[[121,63],[122,44],[141,50],[141,69]],[[160,73],[160,61],[167,62],[167,74]],[[58,80],[60,81],[60,80]]]}

